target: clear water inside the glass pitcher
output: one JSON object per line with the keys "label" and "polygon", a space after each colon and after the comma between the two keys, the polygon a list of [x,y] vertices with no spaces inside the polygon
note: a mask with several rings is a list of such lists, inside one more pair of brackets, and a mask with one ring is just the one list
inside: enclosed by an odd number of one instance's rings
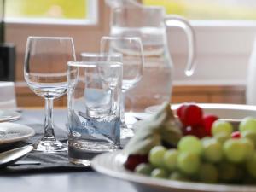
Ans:
{"label": "clear water inside the glass pitcher", "polygon": [[[114,37],[137,36],[142,38],[144,51],[143,78],[127,91],[125,96],[130,98],[133,111],[143,111],[152,105],[170,101],[172,91],[172,61],[167,49],[164,27],[125,28],[112,26],[111,35]],[[125,56],[131,53],[125,53]],[[136,55],[136,53],[133,53]],[[124,67],[125,75],[125,67]]]}

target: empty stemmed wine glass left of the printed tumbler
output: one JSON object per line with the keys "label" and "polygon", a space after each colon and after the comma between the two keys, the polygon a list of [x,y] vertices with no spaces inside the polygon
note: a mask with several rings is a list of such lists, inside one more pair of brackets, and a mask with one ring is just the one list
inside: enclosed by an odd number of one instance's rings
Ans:
{"label": "empty stemmed wine glass left of the printed tumbler", "polygon": [[34,145],[43,152],[67,150],[56,140],[53,102],[67,92],[67,61],[75,61],[73,38],[29,37],[26,43],[24,77],[26,84],[45,99],[44,136]]}

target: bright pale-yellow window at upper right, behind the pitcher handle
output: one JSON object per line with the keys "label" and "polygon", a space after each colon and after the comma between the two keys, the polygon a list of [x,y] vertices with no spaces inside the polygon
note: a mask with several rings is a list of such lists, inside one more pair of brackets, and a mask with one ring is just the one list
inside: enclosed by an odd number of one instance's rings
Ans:
{"label": "bright pale-yellow window at upper right, behind the pitcher handle", "polygon": [[255,20],[254,0],[143,0],[145,5],[161,5],[167,14],[191,20]]}

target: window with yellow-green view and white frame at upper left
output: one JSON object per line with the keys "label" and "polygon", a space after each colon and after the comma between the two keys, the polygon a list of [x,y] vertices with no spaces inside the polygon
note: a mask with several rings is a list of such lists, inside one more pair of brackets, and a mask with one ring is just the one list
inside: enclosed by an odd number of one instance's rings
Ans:
{"label": "window with yellow-green view and white frame at upper left", "polygon": [[92,0],[8,0],[8,22],[83,24],[96,22],[96,1]]}

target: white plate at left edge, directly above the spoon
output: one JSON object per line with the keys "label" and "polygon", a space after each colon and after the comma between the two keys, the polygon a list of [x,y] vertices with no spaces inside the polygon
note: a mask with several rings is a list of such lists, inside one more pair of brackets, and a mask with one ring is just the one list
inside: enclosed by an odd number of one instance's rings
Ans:
{"label": "white plate at left edge, directly above the spoon", "polygon": [[0,123],[0,144],[19,142],[34,134],[35,131],[26,125]]}

